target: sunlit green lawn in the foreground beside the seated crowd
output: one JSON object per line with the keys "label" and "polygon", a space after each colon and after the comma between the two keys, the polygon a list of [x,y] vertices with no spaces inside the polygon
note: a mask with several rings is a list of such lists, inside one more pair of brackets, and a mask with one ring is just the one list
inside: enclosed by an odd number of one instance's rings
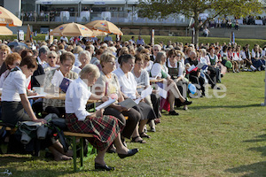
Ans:
{"label": "sunlit green lawn in the foreground beside the seated crowd", "polygon": [[[13,176],[265,176],[265,72],[227,73],[226,96],[191,99],[179,116],[163,113],[156,133],[146,144],[128,142],[137,155],[120,159],[106,154],[114,172],[95,172],[93,158],[85,171],[73,173],[72,162],[0,155],[0,172]],[[212,90],[209,95],[213,96]],[[1,174],[0,174],[1,176]]]}

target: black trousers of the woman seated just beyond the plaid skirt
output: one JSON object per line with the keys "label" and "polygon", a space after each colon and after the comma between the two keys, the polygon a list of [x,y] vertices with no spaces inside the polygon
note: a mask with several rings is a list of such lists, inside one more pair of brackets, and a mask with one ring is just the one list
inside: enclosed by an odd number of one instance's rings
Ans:
{"label": "black trousers of the woman seated just beyond the plaid skirt", "polygon": [[[140,113],[133,108],[130,108],[129,112],[119,112],[118,110],[110,106],[105,109],[104,115],[110,115],[114,116],[117,119],[120,119],[121,122],[125,125],[124,129],[121,132],[121,135],[129,139],[131,138],[131,135],[133,134],[137,126],[137,122],[141,118]],[[127,116],[128,119],[126,120],[124,116]]]}

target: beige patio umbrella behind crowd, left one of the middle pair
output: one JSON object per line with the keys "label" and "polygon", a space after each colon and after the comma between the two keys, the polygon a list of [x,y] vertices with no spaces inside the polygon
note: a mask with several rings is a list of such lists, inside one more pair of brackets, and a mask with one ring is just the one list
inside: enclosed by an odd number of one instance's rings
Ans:
{"label": "beige patio umbrella behind crowd, left one of the middle pair", "polygon": [[50,32],[50,35],[90,37],[92,35],[92,31],[88,27],[73,22],[54,28]]}

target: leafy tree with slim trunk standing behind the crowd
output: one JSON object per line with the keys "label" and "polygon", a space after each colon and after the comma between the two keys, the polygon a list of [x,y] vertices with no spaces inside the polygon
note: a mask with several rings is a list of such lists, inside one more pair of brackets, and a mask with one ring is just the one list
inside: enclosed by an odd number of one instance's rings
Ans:
{"label": "leafy tree with slim trunk standing behind the crowd", "polygon": [[[168,15],[183,13],[194,19],[194,43],[199,43],[200,27],[208,19],[218,15],[234,15],[242,17],[262,12],[262,0],[139,0],[139,13],[149,19],[164,19]],[[209,12],[207,20],[200,25],[199,15]]]}

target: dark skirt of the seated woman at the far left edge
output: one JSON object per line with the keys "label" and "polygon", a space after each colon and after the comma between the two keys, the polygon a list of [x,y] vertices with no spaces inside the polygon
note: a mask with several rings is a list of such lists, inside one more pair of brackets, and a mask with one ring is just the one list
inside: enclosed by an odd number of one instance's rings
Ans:
{"label": "dark skirt of the seated woman at the far left edge", "polygon": [[2,103],[2,120],[4,123],[16,125],[18,121],[31,121],[27,113],[25,113],[21,102],[5,102]]}

